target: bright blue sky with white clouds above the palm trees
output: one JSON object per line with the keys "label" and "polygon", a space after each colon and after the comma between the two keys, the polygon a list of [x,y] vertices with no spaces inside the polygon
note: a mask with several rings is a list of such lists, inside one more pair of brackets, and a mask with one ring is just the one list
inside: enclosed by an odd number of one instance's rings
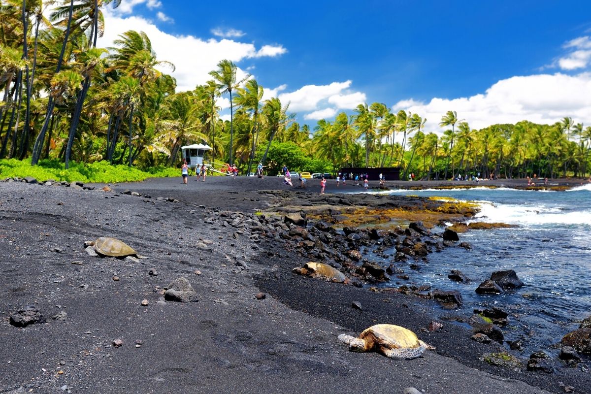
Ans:
{"label": "bright blue sky with white clouds above the palm trees", "polygon": [[230,58],[290,100],[301,123],[363,100],[435,128],[447,109],[476,127],[520,116],[591,122],[589,1],[123,0],[107,14],[105,40],[145,30],[181,87]]}

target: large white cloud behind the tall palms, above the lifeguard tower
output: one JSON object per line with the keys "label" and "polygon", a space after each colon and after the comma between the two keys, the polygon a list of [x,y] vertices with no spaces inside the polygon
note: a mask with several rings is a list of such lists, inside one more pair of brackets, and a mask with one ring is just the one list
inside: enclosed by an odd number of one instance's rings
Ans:
{"label": "large white cloud behind the tall palms, above the lifeguard tower", "polygon": [[[156,6],[157,1],[131,0],[122,2],[122,6],[132,8],[134,5],[146,3],[147,6]],[[119,7],[121,8],[121,6]],[[197,84],[205,83],[211,79],[209,71],[217,68],[217,63],[222,59],[228,59],[235,63],[246,58],[259,58],[261,56],[276,56],[269,53],[269,48],[263,52],[252,43],[210,38],[204,40],[192,35],[172,35],[158,29],[151,21],[136,15],[124,15],[125,12],[112,8],[105,8],[105,35],[99,38],[99,47],[112,47],[113,40],[119,34],[128,30],[144,31],[152,42],[158,60],[167,60],[176,66],[176,71],[168,67],[160,67],[164,73],[171,74],[177,79],[177,91],[192,90]],[[131,9],[130,8],[130,9]],[[281,47],[281,45],[278,45]],[[281,47],[282,48],[282,47]],[[272,52],[272,51],[271,51]],[[238,79],[248,75],[242,69],[238,69]]]}

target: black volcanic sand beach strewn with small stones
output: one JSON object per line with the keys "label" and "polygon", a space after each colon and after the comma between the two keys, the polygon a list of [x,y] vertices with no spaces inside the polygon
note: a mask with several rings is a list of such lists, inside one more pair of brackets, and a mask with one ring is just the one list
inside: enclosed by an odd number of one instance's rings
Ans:
{"label": "black volcanic sand beach strewn with small stones", "polygon": [[[316,182],[309,185],[307,191],[317,193]],[[470,331],[446,322],[441,331],[421,331],[439,311],[431,301],[293,275],[291,269],[306,259],[291,245],[255,243],[248,230],[240,234],[219,224],[233,219],[216,209],[244,213],[234,223],[255,220],[254,211],[278,198],[259,190],[283,190],[279,178],[212,177],[199,184],[191,178],[183,185],[179,177],[112,187],[105,193],[0,183],[0,392],[373,394],[413,386],[425,393],[472,394],[591,388],[590,374],[579,369],[547,375],[480,362],[480,355],[498,347],[476,343]],[[122,194],[126,189],[144,196]],[[327,189],[337,190],[334,181]],[[216,222],[207,223],[209,218]],[[88,256],[83,242],[99,236],[124,240],[147,259]],[[148,275],[152,268],[157,276]],[[120,280],[113,281],[114,275]],[[199,302],[157,305],[157,286],[180,276],[189,279]],[[255,299],[259,291],[267,298]],[[150,304],[142,306],[142,299]],[[350,308],[354,300],[362,311]],[[47,324],[10,325],[9,314],[27,305],[35,305]],[[60,311],[67,312],[66,321],[51,319]],[[408,327],[437,350],[398,361],[351,353],[336,339],[376,323]],[[122,347],[112,346],[116,338]]]}

